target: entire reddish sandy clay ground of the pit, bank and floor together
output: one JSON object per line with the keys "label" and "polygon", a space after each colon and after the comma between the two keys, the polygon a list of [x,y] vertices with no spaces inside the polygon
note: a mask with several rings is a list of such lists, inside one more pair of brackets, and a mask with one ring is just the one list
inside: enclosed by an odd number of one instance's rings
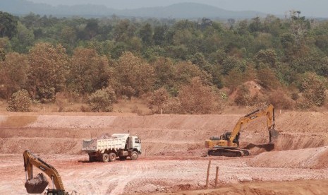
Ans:
{"label": "entire reddish sandy clay ground of the pit, bank and floor together", "polygon": [[[268,134],[265,118],[260,118],[241,131],[241,148],[252,155],[205,156],[205,139],[231,131],[241,116],[3,112],[0,194],[27,194],[26,149],[56,167],[70,193],[328,194],[327,112],[278,112],[280,134],[273,150],[264,147]],[[142,138],[142,155],[136,161],[88,162],[80,151],[85,138],[128,131]],[[34,170],[35,175],[40,172]]]}

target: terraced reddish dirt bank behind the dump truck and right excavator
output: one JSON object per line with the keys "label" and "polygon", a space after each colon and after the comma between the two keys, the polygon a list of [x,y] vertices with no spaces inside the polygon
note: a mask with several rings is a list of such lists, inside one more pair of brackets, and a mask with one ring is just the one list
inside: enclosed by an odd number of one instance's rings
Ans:
{"label": "terraced reddish dirt bank behind the dump truck and right excavator", "polygon": [[[0,116],[0,153],[80,153],[82,140],[102,134],[127,133],[142,138],[147,155],[188,153],[201,155],[205,139],[231,131],[243,115],[152,115],[152,116]],[[328,114],[284,112],[276,114],[280,132],[273,150],[296,150],[328,145]],[[267,151],[266,119],[250,122],[241,130],[241,147],[252,155]]]}

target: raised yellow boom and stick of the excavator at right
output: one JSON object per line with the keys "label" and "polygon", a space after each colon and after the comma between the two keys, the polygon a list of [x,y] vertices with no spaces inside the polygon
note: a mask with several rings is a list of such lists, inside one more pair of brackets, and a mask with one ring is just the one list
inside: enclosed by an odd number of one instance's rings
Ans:
{"label": "raised yellow boom and stick of the excavator at right", "polygon": [[251,112],[249,114],[246,114],[244,117],[241,117],[236,126],[233,128],[233,131],[231,132],[231,136],[229,138],[229,141],[233,141],[233,139],[236,138],[239,131],[241,131],[241,127],[243,124],[247,124],[248,122],[257,119],[257,117],[267,116],[267,129],[269,131],[269,142],[272,142],[272,134],[271,131],[274,129],[274,106],[269,104],[265,105],[265,107],[262,107],[258,110],[255,110],[254,112]]}

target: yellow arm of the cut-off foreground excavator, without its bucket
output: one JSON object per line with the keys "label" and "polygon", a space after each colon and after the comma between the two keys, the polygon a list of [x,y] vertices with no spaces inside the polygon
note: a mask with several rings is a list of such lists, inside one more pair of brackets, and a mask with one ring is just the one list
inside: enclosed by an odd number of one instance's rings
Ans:
{"label": "yellow arm of the cut-off foreground excavator, without its bucket", "polygon": [[49,165],[47,162],[44,162],[42,159],[37,158],[37,156],[31,153],[30,150],[24,151],[23,158],[25,172],[27,172],[27,180],[33,179],[33,166],[35,166],[51,178],[54,186],[56,187],[56,190],[54,191],[61,191],[62,193],[60,194],[63,194],[65,189],[63,187],[63,182],[61,181],[61,176],[53,166]]}

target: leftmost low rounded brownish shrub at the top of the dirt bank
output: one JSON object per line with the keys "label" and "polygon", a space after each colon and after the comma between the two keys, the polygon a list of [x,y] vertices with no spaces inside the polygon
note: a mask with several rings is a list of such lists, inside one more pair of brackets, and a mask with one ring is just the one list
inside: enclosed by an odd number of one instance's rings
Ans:
{"label": "leftmost low rounded brownish shrub at the top of the dirt bank", "polygon": [[10,112],[31,112],[32,100],[27,90],[18,90],[8,101],[7,110]]}

